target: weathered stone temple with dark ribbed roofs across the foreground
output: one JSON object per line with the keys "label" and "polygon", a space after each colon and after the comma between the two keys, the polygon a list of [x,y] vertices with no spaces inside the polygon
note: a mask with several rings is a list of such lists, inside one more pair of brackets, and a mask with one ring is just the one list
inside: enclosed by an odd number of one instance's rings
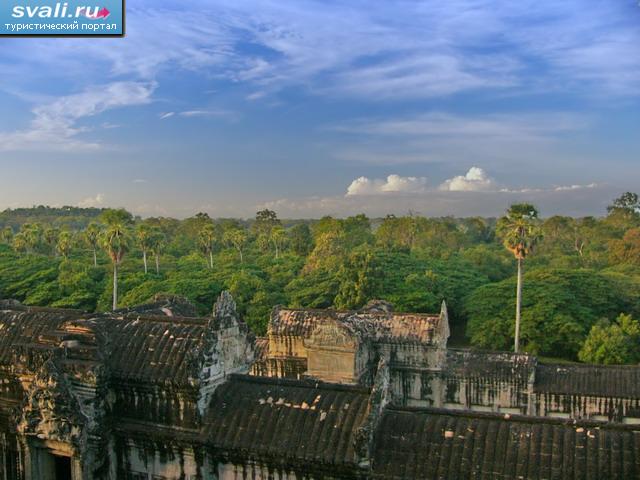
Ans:
{"label": "weathered stone temple with dark ribbed roofs across the foreground", "polygon": [[447,348],[439,314],[0,300],[3,479],[635,479],[640,368]]}

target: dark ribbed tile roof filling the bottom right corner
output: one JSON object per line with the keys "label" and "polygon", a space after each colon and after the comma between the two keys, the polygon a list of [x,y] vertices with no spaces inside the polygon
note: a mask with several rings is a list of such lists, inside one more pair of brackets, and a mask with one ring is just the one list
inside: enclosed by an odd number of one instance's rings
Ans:
{"label": "dark ribbed tile roof filling the bottom right corner", "polygon": [[388,409],[374,477],[401,479],[640,478],[640,432],[496,414]]}

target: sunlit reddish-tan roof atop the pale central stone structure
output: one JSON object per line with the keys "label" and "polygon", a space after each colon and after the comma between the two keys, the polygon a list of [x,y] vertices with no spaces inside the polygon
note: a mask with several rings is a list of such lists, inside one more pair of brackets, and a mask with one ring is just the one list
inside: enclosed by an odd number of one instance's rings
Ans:
{"label": "sunlit reddish-tan roof atop the pale central stone structure", "polygon": [[428,343],[433,339],[440,315],[277,308],[271,316],[269,333],[306,338],[318,324],[328,321],[337,321],[353,333],[375,340]]}

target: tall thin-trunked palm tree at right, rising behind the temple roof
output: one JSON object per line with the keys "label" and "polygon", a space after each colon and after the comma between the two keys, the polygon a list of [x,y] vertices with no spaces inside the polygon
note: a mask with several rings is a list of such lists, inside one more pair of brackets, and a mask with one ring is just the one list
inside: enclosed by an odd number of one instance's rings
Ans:
{"label": "tall thin-trunked palm tree at right, rising behind the temple roof", "polygon": [[538,210],[531,204],[511,205],[507,214],[498,220],[498,235],[504,246],[513,253],[518,262],[518,282],[516,287],[516,331],[514,350],[520,350],[520,310],[522,307],[522,263],[542,239],[542,230],[538,225]]}

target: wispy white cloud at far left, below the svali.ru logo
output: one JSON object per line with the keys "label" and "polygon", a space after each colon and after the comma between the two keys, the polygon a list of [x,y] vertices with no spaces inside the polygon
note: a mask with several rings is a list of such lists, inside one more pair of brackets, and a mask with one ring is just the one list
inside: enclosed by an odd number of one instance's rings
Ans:
{"label": "wispy white cloud at far left, below the svali.ru logo", "polygon": [[59,97],[32,110],[34,118],[28,129],[0,132],[0,151],[95,150],[98,143],[78,138],[89,130],[78,123],[114,108],[149,103],[154,88],[149,83],[115,82]]}

